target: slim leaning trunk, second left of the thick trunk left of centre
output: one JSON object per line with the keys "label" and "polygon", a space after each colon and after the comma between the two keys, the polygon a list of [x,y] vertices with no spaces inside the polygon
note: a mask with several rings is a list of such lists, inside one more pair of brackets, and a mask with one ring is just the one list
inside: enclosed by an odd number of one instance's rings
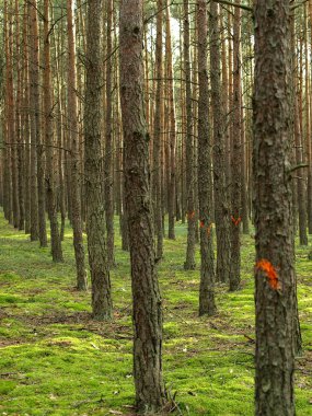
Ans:
{"label": "slim leaning trunk, second left of the thick trunk left of centre", "polygon": [[46,192],[47,209],[50,221],[50,242],[51,256],[54,262],[62,262],[61,240],[59,235],[57,204],[55,194],[55,174],[54,174],[54,119],[51,102],[51,79],[50,79],[50,42],[49,42],[49,0],[44,1],[44,115],[45,115],[45,143],[46,143]]}

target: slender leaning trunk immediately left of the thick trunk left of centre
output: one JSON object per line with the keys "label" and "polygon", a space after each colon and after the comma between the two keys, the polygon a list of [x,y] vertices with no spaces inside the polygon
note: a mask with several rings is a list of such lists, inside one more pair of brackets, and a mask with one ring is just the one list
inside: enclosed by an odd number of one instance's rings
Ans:
{"label": "slender leaning trunk immediately left of the thick trunk left of centre", "polygon": [[84,267],[84,249],[82,240],[82,220],[80,204],[80,175],[79,175],[79,126],[77,103],[77,73],[76,73],[76,43],[74,43],[73,1],[67,0],[68,27],[68,126],[71,139],[71,221],[73,230],[73,247],[77,268],[77,287],[86,289],[86,274]]}

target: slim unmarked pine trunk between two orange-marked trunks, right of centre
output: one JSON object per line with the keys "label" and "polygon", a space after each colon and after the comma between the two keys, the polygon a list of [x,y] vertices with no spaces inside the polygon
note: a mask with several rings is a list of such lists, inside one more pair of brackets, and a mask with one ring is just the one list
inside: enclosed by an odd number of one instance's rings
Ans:
{"label": "slim unmarked pine trunk between two orange-marked trunks, right of centre", "polygon": [[230,277],[230,212],[226,186],[226,137],[224,108],[220,90],[220,28],[218,4],[210,2],[210,71],[211,107],[213,117],[213,190],[217,235],[217,279],[228,281]]}

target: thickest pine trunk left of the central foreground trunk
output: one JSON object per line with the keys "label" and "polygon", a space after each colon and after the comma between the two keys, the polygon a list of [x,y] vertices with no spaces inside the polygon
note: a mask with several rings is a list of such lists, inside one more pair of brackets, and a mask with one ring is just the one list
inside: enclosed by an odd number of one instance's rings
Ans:
{"label": "thickest pine trunk left of the central foreground trunk", "polygon": [[84,174],[86,233],[93,317],[112,317],[112,294],[105,242],[103,164],[101,152],[101,12],[102,0],[88,1],[86,89],[84,108]]}

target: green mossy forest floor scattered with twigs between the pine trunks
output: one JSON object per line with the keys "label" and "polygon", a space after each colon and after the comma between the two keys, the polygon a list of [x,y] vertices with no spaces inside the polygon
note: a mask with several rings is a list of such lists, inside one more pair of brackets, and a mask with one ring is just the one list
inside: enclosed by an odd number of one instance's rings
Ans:
{"label": "green mossy forest floor scattered with twigs between the pine trunks", "polygon": [[[0,213],[0,415],[134,415],[128,253],[116,232],[114,320],[90,317],[90,292],[74,289],[71,231],[54,264]],[[199,267],[184,271],[186,228],[176,223],[159,267],[164,308],[163,370],[177,415],[254,413],[254,240],[242,239],[242,290],[217,286],[218,314],[198,317]],[[310,244],[312,239],[310,239]],[[199,253],[197,253],[199,266]],[[312,414],[312,262],[297,245],[303,356],[297,415]]]}

